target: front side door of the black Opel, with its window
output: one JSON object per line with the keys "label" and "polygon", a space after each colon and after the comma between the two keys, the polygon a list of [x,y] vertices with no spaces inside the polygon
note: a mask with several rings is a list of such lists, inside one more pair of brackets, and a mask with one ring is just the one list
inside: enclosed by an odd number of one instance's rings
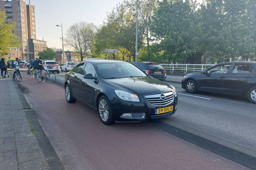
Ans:
{"label": "front side door of the black Opel, with its window", "polygon": [[[97,77],[92,64],[86,63],[83,74],[86,75],[89,73],[92,74],[94,77]],[[97,83],[98,82],[96,80],[82,78],[79,86],[80,100],[93,107],[95,105],[93,102],[95,101],[95,86]]]}

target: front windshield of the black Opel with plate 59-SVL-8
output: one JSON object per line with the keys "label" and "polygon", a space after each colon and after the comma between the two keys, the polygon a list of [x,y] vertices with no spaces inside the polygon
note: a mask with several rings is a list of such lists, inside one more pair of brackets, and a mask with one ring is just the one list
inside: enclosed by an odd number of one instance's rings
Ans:
{"label": "front windshield of the black Opel with plate 59-SVL-8", "polygon": [[102,63],[96,64],[96,66],[104,79],[146,76],[145,73],[130,63]]}

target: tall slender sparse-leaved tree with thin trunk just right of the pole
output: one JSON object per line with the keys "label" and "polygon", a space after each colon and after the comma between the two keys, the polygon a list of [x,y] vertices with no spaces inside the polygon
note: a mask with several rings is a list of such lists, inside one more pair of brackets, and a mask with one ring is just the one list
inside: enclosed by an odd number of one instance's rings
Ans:
{"label": "tall slender sparse-leaved tree with thin trunk just right of the pole", "polygon": [[[136,12],[136,0],[125,1],[125,4]],[[138,20],[144,25],[144,35],[147,44],[147,59],[144,61],[150,61],[150,42],[152,41],[152,35],[150,34],[151,17],[154,10],[157,8],[157,0],[141,0],[138,1]]]}

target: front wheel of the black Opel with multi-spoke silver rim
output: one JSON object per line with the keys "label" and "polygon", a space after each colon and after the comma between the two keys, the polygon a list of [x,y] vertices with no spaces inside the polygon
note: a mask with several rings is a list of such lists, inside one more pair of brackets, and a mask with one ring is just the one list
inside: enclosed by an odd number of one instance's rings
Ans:
{"label": "front wheel of the black Opel with multi-spoke silver rim", "polygon": [[[107,115],[107,112],[108,112],[108,115]],[[105,125],[110,125],[115,122],[112,106],[109,102],[109,99],[106,96],[101,96],[99,98],[98,113],[99,113],[100,120]]]}

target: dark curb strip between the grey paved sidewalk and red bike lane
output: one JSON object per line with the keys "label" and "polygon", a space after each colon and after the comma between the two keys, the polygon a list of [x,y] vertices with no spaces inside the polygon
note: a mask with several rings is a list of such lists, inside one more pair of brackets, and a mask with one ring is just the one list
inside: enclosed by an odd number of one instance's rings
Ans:
{"label": "dark curb strip between the grey paved sidewalk and red bike lane", "polygon": [[[14,83],[14,85],[16,86],[16,88],[19,89],[17,82]],[[22,101],[23,107],[30,108],[30,106],[21,90],[18,90],[18,95],[20,97],[20,100]],[[49,169],[64,170],[65,168],[61,164],[61,161],[60,161],[57,153],[55,152],[48,137],[46,136],[44,130],[42,129],[40,123],[38,122],[36,114],[33,111],[25,111],[25,113],[29,117],[29,119],[31,121],[31,125],[33,126],[34,130],[36,131],[35,137],[36,137],[38,145],[47,161],[47,164],[49,165]]]}

